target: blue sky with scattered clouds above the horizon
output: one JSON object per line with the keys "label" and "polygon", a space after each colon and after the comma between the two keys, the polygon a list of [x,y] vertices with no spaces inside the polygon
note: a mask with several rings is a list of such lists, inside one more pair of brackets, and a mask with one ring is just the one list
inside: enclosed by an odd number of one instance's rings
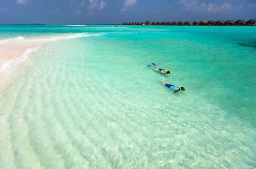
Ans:
{"label": "blue sky with scattered clouds above the horizon", "polygon": [[0,0],[0,24],[256,19],[256,0]]}

